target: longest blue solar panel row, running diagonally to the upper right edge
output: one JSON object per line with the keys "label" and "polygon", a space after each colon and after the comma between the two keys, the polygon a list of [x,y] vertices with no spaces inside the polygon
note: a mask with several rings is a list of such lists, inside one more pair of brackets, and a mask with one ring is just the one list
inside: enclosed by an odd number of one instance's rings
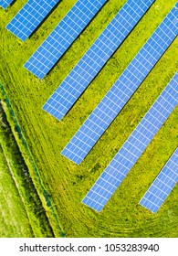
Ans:
{"label": "longest blue solar panel row, running diagonally to the upper right edge", "polygon": [[161,58],[163,52],[173,42],[178,33],[176,24],[177,10],[173,8],[136,57],[131,60],[129,66],[99,102],[96,109],[89,115],[87,121],[79,128],[79,131],[62,151],[62,155],[78,165],[88,155],[99,137],[106,131],[110,123],[129,101],[131,95],[141,85],[142,80]]}

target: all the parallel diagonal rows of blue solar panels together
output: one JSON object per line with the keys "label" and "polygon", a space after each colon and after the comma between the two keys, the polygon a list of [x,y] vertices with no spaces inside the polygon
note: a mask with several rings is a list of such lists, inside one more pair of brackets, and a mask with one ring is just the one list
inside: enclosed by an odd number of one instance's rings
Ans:
{"label": "all the parallel diagonal rows of blue solar panels together", "polygon": [[[62,81],[43,109],[61,120],[154,1],[128,0],[68,77]],[[13,0],[1,1],[0,6],[6,8],[12,2]],[[58,2],[60,0],[28,0],[6,28],[25,41]],[[78,0],[27,60],[25,68],[37,78],[43,79],[106,2],[107,0]],[[65,155],[77,165],[82,162],[177,35],[178,3],[131,60],[120,78],[68,142],[61,155]],[[98,212],[104,208],[177,105],[178,72],[90,188],[82,200],[83,204]],[[156,213],[177,183],[178,147],[141,198],[140,205]]]}

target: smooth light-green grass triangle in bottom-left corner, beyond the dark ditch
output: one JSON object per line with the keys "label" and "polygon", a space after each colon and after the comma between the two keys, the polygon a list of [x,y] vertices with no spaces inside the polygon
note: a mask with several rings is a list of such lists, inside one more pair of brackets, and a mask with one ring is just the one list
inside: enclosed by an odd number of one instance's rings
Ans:
{"label": "smooth light-green grass triangle in bottom-left corner, beyond the dark ditch", "polygon": [[[7,186],[8,185],[8,186]],[[0,237],[34,237],[0,145]]]}

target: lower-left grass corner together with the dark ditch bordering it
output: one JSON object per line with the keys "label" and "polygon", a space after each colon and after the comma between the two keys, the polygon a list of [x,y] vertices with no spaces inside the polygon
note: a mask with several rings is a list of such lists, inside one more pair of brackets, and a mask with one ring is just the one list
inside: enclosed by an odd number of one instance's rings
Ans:
{"label": "lower-left grass corner together with the dark ditch bordering it", "polygon": [[[5,118],[2,105],[0,105],[0,128],[0,156],[2,158],[0,195],[3,220],[0,236],[53,237],[46,211],[37,196],[36,188]],[[8,214],[6,219],[4,211],[6,215]]]}

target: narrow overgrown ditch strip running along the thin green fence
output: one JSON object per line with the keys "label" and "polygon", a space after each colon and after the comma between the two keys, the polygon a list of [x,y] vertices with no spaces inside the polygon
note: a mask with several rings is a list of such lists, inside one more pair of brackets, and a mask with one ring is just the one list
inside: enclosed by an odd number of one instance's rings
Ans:
{"label": "narrow overgrown ditch strip running along the thin green fence", "polygon": [[[11,128],[10,131],[15,136],[16,144],[19,146],[19,149],[20,149],[20,151],[17,152],[16,155],[19,154],[19,155],[21,155],[21,157],[24,156],[24,159],[26,161],[26,163],[23,163],[24,165],[26,165],[26,172],[25,172],[25,174],[20,173],[19,175],[23,178],[22,181],[26,182],[26,173],[27,173],[27,178],[29,179],[28,180],[28,182],[29,182],[28,187],[26,186],[26,183],[24,183],[22,185],[24,185],[24,187],[26,187],[25,192],[26,192],[26,197],[28,198],[28,201],[30,202],[30,208],[32,208],[32,205],[34,203],[34,205],[33,205],[34,208],[33,208],[32,211],[36,211],[37,215],[39,215],[39,216],[40,216],[40,213],[42,214],[42,216],[41,216],[42,217],[42,219],[41,219],[42,223],[45,219],[47,221],[47,217],[45,216],[44,209],[41,208],[41,204],[39,203],[40,199],[37,196],[37,191],[38,191],[39,196],[41,197],[43,206],[44,206],[44,208],[46,208],[46,213],[49,214],[49,216],[51,217],[50,220],[53,222],[53,229],[57,230],[57,233],[56,233],[57,235],[59,234],[60,236],[64,237],[65,234],[64,234],[64,232],[62,231],[62,229],[60,227],[60,224],[59,224],[59,221],[58,221],[58,216],[55,213],[55,210],[54,210],[54,208],[51,204],[51,200],[47,195],[47,190],[45,189],[45,187],[43,185],[43,182],[42,182],[41,177],[40,177],[40,175],[38,173],[38,170],[37,170],[37,165],[34,162],[33,156],[31,155],[31,153],[29,151],[29,148],[26,144],[26,140],[24,138],[22,130],[21,130],[21,128],[20,128],[20,126],[19,126],[19,124],[16,120],[15,112],[13,111],[11,103],[10,103],[10,101],[9,101],[7,95],[6,95],[5,88],[1,84],[0,84],[0,90],[1,90],[0,92],[1,92],[1,95],[2,95],[1,98],[4,100],[4,101],[2,101],[2,106],[3,106],[3,109],[5,111],[5,115],[7,117],[7,120],[10,123],[10,127],[9,127],[9,128]],[[8,138],[6,138],[6,139],[8,140]],[[20,162],[16,161],[16,165],[20,165]],[[36,174],[36,176],[33,176],[33,178],[34,178],[35,183],[37,184],[37,190],[34,187],[33,181],[31,180],[31,177],[29,176],[29,173],[28,173],[28,171],[30,171],[31,169],[33,171],[35,171],[35,174]],[[31,192],[31,195],[30,195],[30,192]],[[35,195],[32,195],[34,192],[35,192]],[[29,211],[30,211],[30,208],[29,208]],[[48,211],[48,208],[50,208],[49,211]],[[44,217],[45,217],[45,219],[43,219]],[[39,217],[39,220],[40,220],[40,217]],[[41,226],[43,227],[44,224],[45,224],[45,222]],[[48,224],[49,223],[47,223],[47,225]],[[37,223],[36,223],[36,225],[37,225]],[[38,226],[39,225],[37,225],[37,227]],[[45,235],[45,233],[44,233],[44,235]]]}

